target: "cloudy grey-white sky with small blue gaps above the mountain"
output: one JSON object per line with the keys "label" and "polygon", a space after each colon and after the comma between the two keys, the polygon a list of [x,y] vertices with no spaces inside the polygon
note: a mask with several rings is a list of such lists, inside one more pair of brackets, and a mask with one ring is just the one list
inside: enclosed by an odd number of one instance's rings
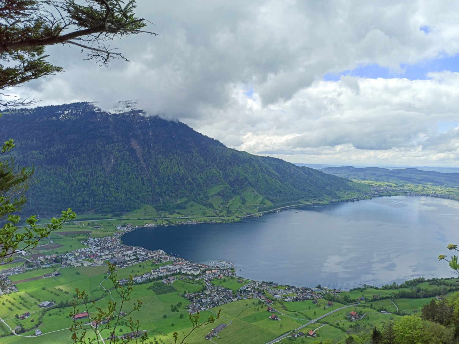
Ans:
{"label": "cloudy grey-white sky with small blue gaps above the mountain", "polygon": [[115,40],[108,68],[47,48],[65,73],[40,105],[139,100],[237,150],[297,163],[459,166],[459,2],[151,1],[159,33]]}

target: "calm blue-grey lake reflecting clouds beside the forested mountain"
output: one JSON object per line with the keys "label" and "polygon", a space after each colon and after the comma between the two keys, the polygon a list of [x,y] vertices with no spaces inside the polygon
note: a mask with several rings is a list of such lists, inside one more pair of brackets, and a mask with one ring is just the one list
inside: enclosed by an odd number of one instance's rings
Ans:
{"label": "calm blue-grey lake reflecting clouds beside the forested mountain", "polygon": [[453,277],[439,254],[458,240],[459,202],[395,196],[306,206],[232,224],[138,228],[124,244],[187,260],[235,263],[238,275],[350,289]]}

